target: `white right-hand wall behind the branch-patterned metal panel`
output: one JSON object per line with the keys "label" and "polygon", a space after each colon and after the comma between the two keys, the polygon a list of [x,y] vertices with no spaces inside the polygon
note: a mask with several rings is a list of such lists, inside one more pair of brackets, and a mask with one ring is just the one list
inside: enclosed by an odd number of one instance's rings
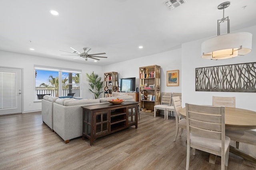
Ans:
{"label": "white right-hand wall behind the branch-patterned metal panel", "polygon": [[182,106],[185,103],[211,105],[212,96],[236,97],[236,107],[256,111],[256,93],[241,92],[202,92],[195,91],[195,69],[217,65],[250,63],[256,61],[256,26],[236,32],[252,33],[252,51],[244,56],[232,59],[208,60],[201,58],[201,43],[206,40],[196,40],[182,44]]}

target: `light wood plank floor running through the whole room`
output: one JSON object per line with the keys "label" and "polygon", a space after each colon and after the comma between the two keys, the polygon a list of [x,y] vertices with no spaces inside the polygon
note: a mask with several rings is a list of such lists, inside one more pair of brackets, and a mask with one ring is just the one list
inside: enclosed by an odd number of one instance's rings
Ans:
{"label": "light wood plank floor running through the whole room", "polygon": [[[94,146],[82,137],[65,144],[42,123],[41,112],[0,116],[0,169],[184,170],[186,130],[176,142],[174,134],[175,119],[140,114],[138,129],[130,127],[98,138]],[[255,147],[249,150],[255,151]],[[190,156],[190,169],[220,169],[220,157],[215,165],[208,158],[208,153],[196,150]],[[255,167],[230,153],[227,169]]]}

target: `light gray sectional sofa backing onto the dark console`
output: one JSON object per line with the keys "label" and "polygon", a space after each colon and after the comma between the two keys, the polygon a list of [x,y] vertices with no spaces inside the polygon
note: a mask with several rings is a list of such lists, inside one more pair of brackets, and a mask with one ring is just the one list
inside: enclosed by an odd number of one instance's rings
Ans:
{"label": "light gray sectional sofa backing onto the dark console", "polygon": [[82,136],[82,106],[101,105],[111,99],[134,101],[132,96],[106,97],[101,99],[72,99],[45,95],[42,99],[42,121],[55,131],[65,143]]}

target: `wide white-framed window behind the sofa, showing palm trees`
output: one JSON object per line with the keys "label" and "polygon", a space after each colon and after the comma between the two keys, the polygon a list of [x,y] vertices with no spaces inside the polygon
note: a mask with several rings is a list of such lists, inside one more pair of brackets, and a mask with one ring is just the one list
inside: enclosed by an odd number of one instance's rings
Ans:
{"label": "wide white-framed window behind the sofa, showing palm trees", "polygon": [[59,97],[74,93],[74,97],[80,96],[81,70],[38,65],[35,65],[34,69],[36,100],[42,99],[44,95]]}

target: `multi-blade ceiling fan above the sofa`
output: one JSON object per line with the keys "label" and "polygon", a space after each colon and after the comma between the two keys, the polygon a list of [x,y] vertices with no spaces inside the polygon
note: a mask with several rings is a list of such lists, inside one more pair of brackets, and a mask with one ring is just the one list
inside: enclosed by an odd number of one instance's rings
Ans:
{"label": "multi-blade ceiling fan above the sofa", "polygon": [[[106,54],[106,53],[89,54],[89,52],[91,51],[91,48],[88,49],[88,51],[86,51],[87,48],[84,47],[84,48],[83,48],[84,52],[82,52],[82,53],[80,53],[79,51],[77,51],[76,49],[74,49],[74,48],[72,48],[72,47],[70,47],[70,48],[73,49],[74,51],[73,51],[73,52],[63,51],[63,52],[75,54],[75,55],[77,55],[77,56],[80,56],[80,57],[84,58],[86,61],[88,60],[88,58],[100,60],[100,59],[97,59],[97,58],[95,58],[95,57],[99,57],[99,58],[108,58],[108,57],[96,56],[96,55],[102,55],[102,54]],[[62,51],[62,50],[60,50],[60,51]],[[64,55],[64,54],[62,54],[62,55]],[[79,58],[79,57],[77,57],[77,58]],[[74,58],[74,59],[76,59],[76,58]]]}

